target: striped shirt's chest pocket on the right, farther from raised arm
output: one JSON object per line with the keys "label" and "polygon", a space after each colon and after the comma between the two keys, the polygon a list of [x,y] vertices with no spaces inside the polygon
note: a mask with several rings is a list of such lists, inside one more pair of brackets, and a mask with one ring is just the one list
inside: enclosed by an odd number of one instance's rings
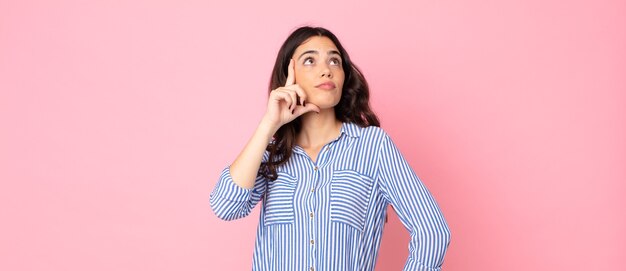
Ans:
{"label": "striped shirt's chest pocket on the right, farther from raised arm", "polygon": [[331,221],[345,223],[360,231],[372,191],[372,180],[353,170],[338,170],[330,186]]}

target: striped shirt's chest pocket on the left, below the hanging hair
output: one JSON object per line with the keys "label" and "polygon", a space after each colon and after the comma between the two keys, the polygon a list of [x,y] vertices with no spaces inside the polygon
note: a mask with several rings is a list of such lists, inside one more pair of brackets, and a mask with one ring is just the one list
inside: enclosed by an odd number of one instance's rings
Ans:
{"label": "striped shirt's chest pocket on the left, below the hanging hair", "polygon": [[264,226],[294,221],[294,194],[297,180],[295,177],[279,173],[278,178],[268,182],[265,194]]}

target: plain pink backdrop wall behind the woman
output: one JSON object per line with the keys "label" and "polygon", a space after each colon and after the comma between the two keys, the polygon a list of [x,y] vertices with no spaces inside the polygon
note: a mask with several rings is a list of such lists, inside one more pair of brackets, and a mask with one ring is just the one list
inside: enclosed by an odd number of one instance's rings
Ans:
{"label": "plain pink backdrop wall behind the woman", "polygon": [[249,270],[258,208],[208,196],[303,24],[440,203],[444,270],[626,270],[626,2],[381,2],[1,1],[0,270]]}

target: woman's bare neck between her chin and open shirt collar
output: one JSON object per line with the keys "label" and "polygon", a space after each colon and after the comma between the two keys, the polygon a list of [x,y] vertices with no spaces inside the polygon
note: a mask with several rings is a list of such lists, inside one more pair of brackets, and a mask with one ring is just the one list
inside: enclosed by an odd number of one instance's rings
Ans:
{"label": "woman's bare neck between her chin and open shirt collar", "polygon": [[341,133],[341,121],[335,117],[335,110],[329,108],[320,113],[302,115],[302,129],[296,136],[296,144],[302,148],[318,148],[337,138]]}

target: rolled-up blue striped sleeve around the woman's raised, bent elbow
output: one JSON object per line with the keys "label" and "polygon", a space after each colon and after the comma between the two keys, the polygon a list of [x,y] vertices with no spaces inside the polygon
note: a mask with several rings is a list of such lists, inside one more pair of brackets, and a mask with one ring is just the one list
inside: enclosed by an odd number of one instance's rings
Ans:
{"label": "rolled-up blue striped sleeve around the woman's raised, bent elbow", "polygon": [[220,174],[220,178],[210,195],[211,209],[223,220],[234,220],[250,214],[265,192],[265,178],[256,177],[254,187],[246,189],[233,182],[230,166]]}

